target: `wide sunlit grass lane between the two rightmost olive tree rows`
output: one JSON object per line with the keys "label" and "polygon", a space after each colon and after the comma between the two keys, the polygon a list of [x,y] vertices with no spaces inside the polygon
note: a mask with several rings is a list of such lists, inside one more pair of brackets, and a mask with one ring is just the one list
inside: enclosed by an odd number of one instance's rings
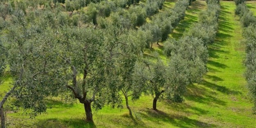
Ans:
{"label": "wide sunlit grass lane between the two rightmost olive tree rows", "polygon": [[222,127],[254,128],[256,116],[251,114],[243,76],[242,28],[234,10],[234,2],[221,2],[219,30],[215,43],[209,46],[209,72],[202,84],[189,88],[186,99],[201,108],[193,119]]}

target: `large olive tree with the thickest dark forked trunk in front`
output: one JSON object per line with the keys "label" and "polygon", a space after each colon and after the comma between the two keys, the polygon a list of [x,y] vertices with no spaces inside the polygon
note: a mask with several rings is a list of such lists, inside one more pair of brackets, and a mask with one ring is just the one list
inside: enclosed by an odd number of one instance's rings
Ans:
{"label": "large olive tree with the thickest dark forked trunk in front", "polygon": [[[92,28],[66,28],[58,38],[59,60],[65,69],[66,87],[74,97],[84,104],[87,121],[93,122],[91,103],[101,108],[105,102],[105,56],[103,54],[103,35],[101,31]],[[56,67],[54,70],[58,70]],[[72,81],[72,83],[70,83]]]}

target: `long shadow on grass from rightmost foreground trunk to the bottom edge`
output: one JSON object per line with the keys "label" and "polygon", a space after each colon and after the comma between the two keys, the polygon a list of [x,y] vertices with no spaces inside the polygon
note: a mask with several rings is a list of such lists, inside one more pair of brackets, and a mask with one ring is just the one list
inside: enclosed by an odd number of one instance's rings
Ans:
{"label": "long shadow on grass from rightmost foreground trunk to the bottom edge", "polygon": [[194,127],[214,127],[213,124],[208,124],[196,119],[190,119],[183,115],[168,114],[160,110],[148,109],[146,113],[139,113],[145,119],[152,121],[154,124],[162,124],[161,121],[170,123],[174,126],[182,128],[194,128]]}

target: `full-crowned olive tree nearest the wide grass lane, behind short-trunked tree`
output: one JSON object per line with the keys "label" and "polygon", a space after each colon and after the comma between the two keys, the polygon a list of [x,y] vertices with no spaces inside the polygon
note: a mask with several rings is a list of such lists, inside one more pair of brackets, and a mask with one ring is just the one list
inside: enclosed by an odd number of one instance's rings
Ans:
{"label": "full-crowned olive tree nearest the wide grass lane, behind short-trunked tree", "polygon": [[[183,37],[179,41],[168,40],[165,44],[165,54],[169,57],[169,66],[172,65],[168,68],[170,73],[177,70],[181,72],[176,76],[181,77],[178,78],[178,81],[175,80],[176,77],[169,78],[170,81],[174,79],[170,84],[175,86],[175,88],[172,88],[174,94],[171,99],[174,102],[182,102],[186,85],[201,82],[203,75],[206,74],[207,48],[200,39]],[[169,74],[169,76],[172,75]]]}

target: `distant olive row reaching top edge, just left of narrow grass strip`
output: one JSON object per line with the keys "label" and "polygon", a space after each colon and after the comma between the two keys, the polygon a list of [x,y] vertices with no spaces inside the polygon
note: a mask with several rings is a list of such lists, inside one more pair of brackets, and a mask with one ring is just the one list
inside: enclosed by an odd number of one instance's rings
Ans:
{"label": "distant olive row reaching top edge, just left of narrow grass strip", "polygon": [[189,5],[189,0],[179,0],[174,8],[158,13],[152,17],[152,21],[144,24],[141,29],[151,33],[151,38],[147,41],[147,47],[155,42],[165,41],[168,35],[184,19],[185,11]]}

